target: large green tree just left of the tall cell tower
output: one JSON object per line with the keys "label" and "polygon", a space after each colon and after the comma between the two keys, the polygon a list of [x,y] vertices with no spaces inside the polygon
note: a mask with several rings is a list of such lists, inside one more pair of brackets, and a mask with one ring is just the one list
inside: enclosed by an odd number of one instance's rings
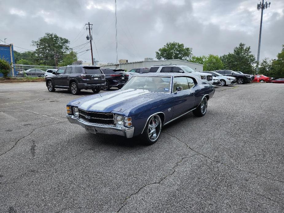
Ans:
{"label": "large green tree just left of the tall cell tower", "polygon": [[233,53],[228,53],[220,57],[225,69],[233,71],[241,71],[246,74],[252,74],[253,64],[255,63],[255,56],[251,54],[251,47],[244,43],[240,43],[238,47],[234,48]]}

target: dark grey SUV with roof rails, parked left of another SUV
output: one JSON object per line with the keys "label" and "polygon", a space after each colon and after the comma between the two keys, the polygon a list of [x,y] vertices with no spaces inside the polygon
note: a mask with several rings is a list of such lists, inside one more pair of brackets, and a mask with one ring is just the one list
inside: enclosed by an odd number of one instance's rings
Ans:
{"label": "dark grey SUV with roof rails, parked left of another SUV", "polygon": [[78,95],[81,89],[91,89],[98,93],[106,85],[104,74],[98,66],[68,65],[60,67],[53,74],[54,76],[46,76],[45,79],[50,92],[67,89],[73,95]]}

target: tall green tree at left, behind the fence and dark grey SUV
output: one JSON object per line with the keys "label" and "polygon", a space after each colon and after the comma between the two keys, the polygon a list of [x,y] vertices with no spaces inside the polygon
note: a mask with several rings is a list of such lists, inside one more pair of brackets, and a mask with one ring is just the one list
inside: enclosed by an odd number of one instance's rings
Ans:
{"label": "tall green tree at left, behind the fence and dark grey SUV", "polygon": [[55,66],[54,57],[58,63],[62,62],[64,54],[67,53],[70,41],[67,38],[57,36],[55,33],[45,33],[44,37],[37,41],[32,41],[32,45],[37,47],[36,55],[40,59],[40,64]]}

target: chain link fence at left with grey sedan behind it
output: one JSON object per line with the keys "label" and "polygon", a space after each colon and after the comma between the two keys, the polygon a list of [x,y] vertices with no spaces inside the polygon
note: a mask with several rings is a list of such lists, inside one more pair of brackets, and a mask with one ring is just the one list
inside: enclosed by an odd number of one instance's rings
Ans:
{"label": "chain link fence at left with grey sedan behind it", "polygon": [[[13,64],[15,77],[44,77],[45,73],[52,73],[59,67]],[[13,76],[13,75],[11,75]]]}

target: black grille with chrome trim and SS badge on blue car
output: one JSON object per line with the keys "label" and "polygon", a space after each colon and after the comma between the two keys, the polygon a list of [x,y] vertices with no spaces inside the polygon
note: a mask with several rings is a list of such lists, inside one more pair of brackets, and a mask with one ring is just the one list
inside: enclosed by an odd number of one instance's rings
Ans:
{"label": "black grille with chrome trim and SS badge on blue car", "polygon": [[107,124],[107,125],[115,124],[113,113],[88,112],[79,109],[79,118],[82,118],[89,123]]}

